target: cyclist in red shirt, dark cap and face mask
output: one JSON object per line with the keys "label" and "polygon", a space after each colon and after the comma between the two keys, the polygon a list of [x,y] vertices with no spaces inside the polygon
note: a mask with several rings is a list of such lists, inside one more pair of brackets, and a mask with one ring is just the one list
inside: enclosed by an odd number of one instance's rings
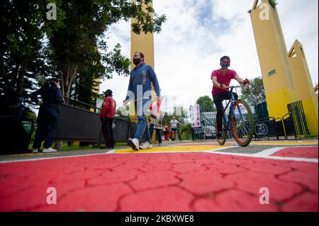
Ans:
{"label": "cyclist in red shirt, dark cap and face mask", "polygon": [[[250,84],[250,80],[241,79],[237,73],[228,69],[230,67],[230,57],[224,56],[220,58],[220,69],[213,71],[211,74],[211,80],[213,80],[213,101],[216,106],[217,115],[217,138],[221,139],[223,137],[223,101],[230,99],[229,85],[232,79],[235,79],[241,85]],[[237,100],[238,95],[233,93],[235,99]]]}

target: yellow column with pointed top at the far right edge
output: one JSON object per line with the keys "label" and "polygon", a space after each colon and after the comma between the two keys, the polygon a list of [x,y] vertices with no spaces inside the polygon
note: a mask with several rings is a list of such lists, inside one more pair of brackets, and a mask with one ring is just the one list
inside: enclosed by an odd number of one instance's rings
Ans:
{"label": "yellow column with pointed top at the far right edge", "polygon": [[318,135],[318,101],[313,90],[306,55],[298,40],[293,43],[288,53],[291,75],[298,98],[303,102],[306,121],[310,134]]}

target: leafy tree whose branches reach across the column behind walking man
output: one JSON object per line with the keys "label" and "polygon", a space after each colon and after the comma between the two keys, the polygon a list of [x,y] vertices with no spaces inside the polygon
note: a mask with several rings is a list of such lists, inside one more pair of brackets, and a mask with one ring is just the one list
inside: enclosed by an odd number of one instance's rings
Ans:
{"label": "leafy tree whose branches reach across the column behind walking man", "polygon": [[[146,12],[142,11],[142,4],[150,1],[140,0],[134,4],[128,0],[73,0],[60,6],[62,15],[65,15],[62,20],[64,26],[51,27],[51,21],[46,26],[51,28],[47,35],[60,67],[65,96],[69,97],[72,83],[83,64],[99,71],[103,79],[111,79],[113,72],[126,76],[129,74],[130,61],[121,54],[121,46],[116,45],[109,50],[104,34],[114,23],[130,18],[136,20],[132,24],[133,32],[158,33],[166,17],[157,16],[151,6],[147,6]],[[150,16],[150,13],[154,16]]]}

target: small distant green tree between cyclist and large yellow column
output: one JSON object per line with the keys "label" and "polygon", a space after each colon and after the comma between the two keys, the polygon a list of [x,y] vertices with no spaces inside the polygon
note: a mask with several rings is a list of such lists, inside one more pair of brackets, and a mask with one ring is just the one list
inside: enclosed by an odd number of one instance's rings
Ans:
{"label": "small distant green tree between cyclist and large yellow column", "polygon": [[252,106],[266,101],[262,77],[252,79],[250,86],[251,89],[242,89],[242,95],[240,98],[247,100]]}

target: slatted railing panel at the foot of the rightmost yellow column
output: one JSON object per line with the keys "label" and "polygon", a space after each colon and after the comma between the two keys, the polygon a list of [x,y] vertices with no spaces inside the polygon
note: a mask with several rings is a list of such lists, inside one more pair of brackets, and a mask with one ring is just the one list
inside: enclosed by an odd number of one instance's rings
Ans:
{"label": "slatted railing panel at the foot of the rightmost yellow column", "polygon": [[306,116],[303,111],[302,101],[297,101],[288,104],[288,111],[291,113],[291,118],[293,122],[293,127],[296,131],[297,137],[305,137],[309,135],[309,129],[306,122]]}

